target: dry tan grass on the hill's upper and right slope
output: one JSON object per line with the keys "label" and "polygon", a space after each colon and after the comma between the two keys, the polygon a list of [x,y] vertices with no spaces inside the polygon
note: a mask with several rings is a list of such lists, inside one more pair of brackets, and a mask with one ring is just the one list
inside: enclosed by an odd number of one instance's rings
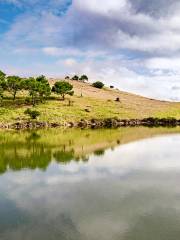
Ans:
{"label": "dry tan grass on the hill's upper and right slope", "polygon": [[[56,80],[55,80],[56,81]],[[53,81],[54,82],[54,81]],[[115,99],[120,98],[121,104],[118,108],[123,108],[125,112],[137,118],[144,117],[177,117],[180,118],[180,103],[160,101],[146,98],[136,94],[120,91],[118,89],[97,89],[89,83],[69,81],[74,86],[75,96],[95,99],[97,101],[111,102],[114,105]],[[123,116],[122,116],[123,117]],[[126,116],[126,113],[124,115]]]}

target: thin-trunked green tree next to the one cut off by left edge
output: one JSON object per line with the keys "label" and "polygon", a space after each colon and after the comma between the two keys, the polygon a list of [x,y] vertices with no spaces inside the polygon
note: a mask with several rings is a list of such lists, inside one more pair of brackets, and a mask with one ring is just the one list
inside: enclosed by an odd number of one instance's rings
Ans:
{"label": "thin-trunked green tree next to the one cut off by left edge", "polygon": [[22,90],[22,79],[18,76],[7,77],[7,89],[13,95],[13,101],[18,91]]}

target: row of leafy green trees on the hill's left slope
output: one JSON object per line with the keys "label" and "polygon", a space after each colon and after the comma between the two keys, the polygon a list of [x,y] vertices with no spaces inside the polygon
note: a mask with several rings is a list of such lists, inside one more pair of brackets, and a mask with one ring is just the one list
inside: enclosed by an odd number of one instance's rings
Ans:
{"label": "row of leafy green trees on the hill's left slope", "polygon": [[15,101],[17,93],[26,91],[29,95],[29,101],[35,106],[38,102],[44,102],[52,92],[61,95],[73,95],[73,85],[67,81],[58,81],[51,88],[48,79],[45,76],[21,78],[19,76],[6,76],[0,71],[0,100],[4,99],[4,93],[9,92],[12,100]]}

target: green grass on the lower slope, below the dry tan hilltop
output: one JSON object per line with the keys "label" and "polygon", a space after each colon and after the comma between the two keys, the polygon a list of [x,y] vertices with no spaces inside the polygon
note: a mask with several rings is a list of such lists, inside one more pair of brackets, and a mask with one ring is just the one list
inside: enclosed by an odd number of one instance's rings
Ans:
{"label": "green grass on the lower slope, below the dry tan hilltop", "polygon": [[[40,111],[39,121],[47,122],[77,122],[81,119],[103,119],[111,117],[133,118],[135,114],[113,101],[103,101],[89,97],[73,97],[73,105],[68,106],[68,100],[60,101],[58,98],[40,103],[34,107]],[[19,120],[28,120],[24,111],[30,106],[24,104],[21,98],[15,102],[4,100],[0,107],[0,122],[13,123]],[[89,109],[86,112],[85,109]]]}

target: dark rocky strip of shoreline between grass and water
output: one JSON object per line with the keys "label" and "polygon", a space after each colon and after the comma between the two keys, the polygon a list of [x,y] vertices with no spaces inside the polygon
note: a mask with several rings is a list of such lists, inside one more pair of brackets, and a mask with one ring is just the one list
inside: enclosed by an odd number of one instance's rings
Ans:
{"label": "dark rocky strip of shoreline between grass and water", "polygon": [[16,123],[0,123],[0,129],[46,129],[46,128],[120,128],[120,127],[177,127],[180,126],[180,119],[175,118],[144,118],[144,119],[91,119],[79,122],[50,123],[40,121],[23,121]]}

